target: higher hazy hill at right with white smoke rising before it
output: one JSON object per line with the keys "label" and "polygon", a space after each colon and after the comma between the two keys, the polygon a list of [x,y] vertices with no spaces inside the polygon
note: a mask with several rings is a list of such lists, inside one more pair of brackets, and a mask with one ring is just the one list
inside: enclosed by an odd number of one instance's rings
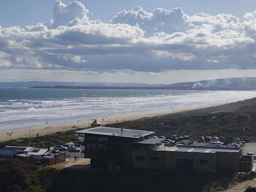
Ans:
{"label": "higher hazy hill at right with white smoke rising before it", "polygon": [[256,89],[256,77],[239,77],[228,79],[212,79],[196,82],[175,83],[164,86],[171,89],[216,89],[229,90],[241,89],[251,90]]}

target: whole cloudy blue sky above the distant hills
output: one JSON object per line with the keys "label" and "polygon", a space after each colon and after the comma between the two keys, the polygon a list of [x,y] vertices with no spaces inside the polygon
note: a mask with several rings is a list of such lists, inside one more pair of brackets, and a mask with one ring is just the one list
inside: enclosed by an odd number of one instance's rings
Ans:
{"label": "whole cloudy blue sky above the distant hills", "polygon": [[256,76],[256,1],[0,0],[0,82]]}

